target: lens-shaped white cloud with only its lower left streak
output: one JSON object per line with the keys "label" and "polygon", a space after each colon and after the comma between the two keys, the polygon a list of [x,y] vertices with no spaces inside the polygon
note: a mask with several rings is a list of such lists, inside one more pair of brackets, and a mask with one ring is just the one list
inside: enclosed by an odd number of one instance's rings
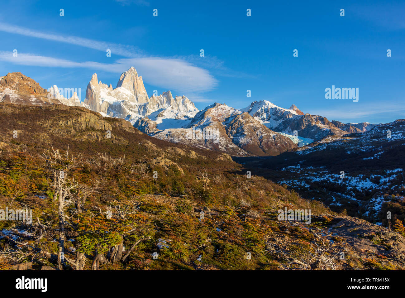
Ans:
{"label": "lens-shaped white cloud with only its lower left streak", "polygon": [[217,86],[217,80],[209,74],[209,71],[179,59],[122,58],[111,64],[104,64],[94,61],[75,62],[27,53],[18,53],[17,57],[13,57],[11,51],[0,51],[0,60],[20,65],[78,67],[111,73],[123,73],[131,66],[136,66],[136,70],[146,83],[181,92],[203,92]]}

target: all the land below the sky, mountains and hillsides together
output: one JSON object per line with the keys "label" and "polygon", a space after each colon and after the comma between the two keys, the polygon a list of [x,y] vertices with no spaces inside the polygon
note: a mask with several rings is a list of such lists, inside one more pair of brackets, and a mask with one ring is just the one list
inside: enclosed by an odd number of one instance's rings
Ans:
{"label": "all the land below the sky, mountains and hillsides together", "polygon": [[116,88],[92,75],[84,101],[68,91],[0,77],[0,210],[36,218],[0,221],[0,269],[405,268],[405,120],[199,111],[149,97],[134,68]]}

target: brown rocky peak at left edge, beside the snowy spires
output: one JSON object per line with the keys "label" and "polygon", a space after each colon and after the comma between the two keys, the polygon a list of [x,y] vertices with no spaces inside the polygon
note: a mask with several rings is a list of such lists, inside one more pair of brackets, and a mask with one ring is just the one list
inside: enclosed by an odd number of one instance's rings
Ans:
{"label": "brown rocky peak at left edge, beside the snowy spires", "polygon": [[21,105],[58,104],[58,99],[48,99],[46,89],[22,73],[8,73],[0,77],[0,102]]}

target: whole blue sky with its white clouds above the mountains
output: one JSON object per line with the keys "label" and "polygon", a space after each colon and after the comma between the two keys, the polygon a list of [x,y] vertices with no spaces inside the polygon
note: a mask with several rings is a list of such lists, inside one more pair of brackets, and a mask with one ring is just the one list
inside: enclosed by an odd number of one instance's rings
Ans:
{"label": "whole blue sky with its white clouds above the mountains", "polygon": [[[342,122],[405,118],[405,3],[325,2],[2,0],[0,76],[81,88],[83,100],[93,73],[115,88],[134,66],[149,96],[172,90],[199,109],[268,100]],[[325,99],[332,85],[359,88],[359,101]]]}

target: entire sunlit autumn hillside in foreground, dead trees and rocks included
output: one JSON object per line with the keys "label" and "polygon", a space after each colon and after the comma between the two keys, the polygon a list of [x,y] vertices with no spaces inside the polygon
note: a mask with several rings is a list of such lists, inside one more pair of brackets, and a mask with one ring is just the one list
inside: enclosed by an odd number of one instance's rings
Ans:
{"label": "entire sunlit autumn hillside in foreground, dead trees and rocks included", "polygon": [[[33,214],[0,221],[3,269],[405,269],[400,234],[250,177],[227,154],[83,107],[0,103],[0,125],[0,208]],[[278,220],[285,207],[311,222]]]}

